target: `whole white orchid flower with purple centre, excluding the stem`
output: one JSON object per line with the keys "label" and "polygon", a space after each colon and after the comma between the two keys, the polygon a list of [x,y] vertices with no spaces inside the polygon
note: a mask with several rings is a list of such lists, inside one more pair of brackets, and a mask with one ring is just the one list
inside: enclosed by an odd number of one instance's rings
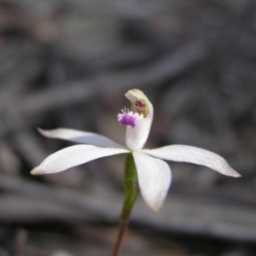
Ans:
{"label": "whole white orchid flower with purple centre, excluding the stem", "polygon": [[162,148],[143,149],[151,128],[154,108],[141,90],[129,90],[125,94],[131,101],[131,110],[118,115],[120,125],[126,126],[126,147],[108,137],[72,129],[39,130],[45,137],[60,138],[80,145],[61,149],[49,155],[41,165],[32,170],[33,175],[64,171],[90,160],[113,154],[132,153],[137,167],[139,188],[149,207],[159,212],[171,184],[171,169],[163,160],[193,163],[207,166],[227,176],[240,177],[218,154],[186,145],[170,145]]}

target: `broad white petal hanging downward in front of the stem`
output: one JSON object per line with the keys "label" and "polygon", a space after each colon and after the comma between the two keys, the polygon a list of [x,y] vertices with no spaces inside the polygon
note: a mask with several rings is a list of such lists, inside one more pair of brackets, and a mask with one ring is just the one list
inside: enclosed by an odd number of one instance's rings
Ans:
{"label": "broad white petal hanging downward in front of the stem", "polygon": [[134,152],[133,157],[143,199],[155,212],[160,212],[171,184],[171,169],[163,160],[146,154]]}

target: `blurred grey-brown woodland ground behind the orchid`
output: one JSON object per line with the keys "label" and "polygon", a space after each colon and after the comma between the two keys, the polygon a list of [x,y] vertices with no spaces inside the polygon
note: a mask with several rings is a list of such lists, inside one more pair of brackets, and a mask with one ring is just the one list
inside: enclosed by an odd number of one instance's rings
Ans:
{"label": "blurred grey-brown woodland ground behind the orchid", "polygon": [[255,84],[254,0],[0,1],[0,256],[111,255],[125,156],[30,171],[72,145],[37,127],[125,143],[133,88],[154,104],[146,148],[207,148],[242,177],[169,162],[162,212],[138,199],[120,255],[255,255]]}

